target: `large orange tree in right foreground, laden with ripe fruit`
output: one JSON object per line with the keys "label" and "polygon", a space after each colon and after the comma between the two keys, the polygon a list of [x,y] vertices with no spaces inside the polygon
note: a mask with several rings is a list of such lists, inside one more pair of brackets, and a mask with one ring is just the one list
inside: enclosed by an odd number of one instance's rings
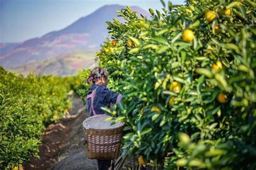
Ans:
{"label": "large orange tree in right foreground, laden with ripe fruit", "polygon": [[125,23],[107,23],[123,47],[99,59],[124,93],[124,153],[166,168],[255,169],[256,4],[167,6],[150,20],[126,8]]}

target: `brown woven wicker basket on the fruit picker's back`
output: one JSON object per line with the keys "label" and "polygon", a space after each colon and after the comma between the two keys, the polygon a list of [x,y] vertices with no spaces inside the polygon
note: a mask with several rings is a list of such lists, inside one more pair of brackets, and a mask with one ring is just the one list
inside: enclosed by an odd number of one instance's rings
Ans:
{"label": "brown woven wicker basket on the fruit picker's back", "polygon": [[104,121],[107,117],[109,116],[92,116],[83,122],[86,152],[90,159],[118,157],[124,123],[111,125],[112,121]]}

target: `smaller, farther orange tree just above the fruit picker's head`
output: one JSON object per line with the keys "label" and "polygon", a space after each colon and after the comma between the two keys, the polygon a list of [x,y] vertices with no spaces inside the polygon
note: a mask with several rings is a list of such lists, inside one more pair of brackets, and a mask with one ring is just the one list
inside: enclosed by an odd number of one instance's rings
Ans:
{"label": "smaller, farther orange tree just above the fruit picker's head", "polygon": [[[108,86],[112,90],[122,92],[124,90],[122,81],[126,77],[123,69],[125,65],[127,66],[126,62],[130,62],[129,51],[138,45],[138,41],[133,37],[140,35],[142,31],[140,23],[143,19],[139,20],[137,12],[131,11],[129,6],[116,12],[125,23],[119,22],[116,18],[113,19],[113,23],[106,22],[112,40],[106,39],[100,52],[97,53],[97,60],[99,60],[99,66],[106,68],[110,74]],[[135,40],[136,43],[132,40]]]}

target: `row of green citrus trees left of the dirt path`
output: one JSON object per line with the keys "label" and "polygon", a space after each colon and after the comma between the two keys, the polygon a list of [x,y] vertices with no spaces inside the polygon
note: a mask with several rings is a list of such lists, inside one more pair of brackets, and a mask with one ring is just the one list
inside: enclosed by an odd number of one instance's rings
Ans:
{"label": "row of green citrus trees left of the dirt path", "polygon": [[78,90],[80,80],[81,74],[23,77],[0,67],[0,169],[38,157],[45,126],[71,108],[67,95],[71,89]]}

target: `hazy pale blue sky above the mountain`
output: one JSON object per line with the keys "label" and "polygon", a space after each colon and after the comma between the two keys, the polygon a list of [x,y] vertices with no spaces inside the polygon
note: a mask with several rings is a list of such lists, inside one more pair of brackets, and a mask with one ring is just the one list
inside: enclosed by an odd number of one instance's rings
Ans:
{"label": "hazy pale blue sky above the mountain", "polygon": [[[184,1],[171,2],[181,4]],[[147,11],[163,8],[159,0],[0,0],[0,42],[41,37],[107,4],[136,5]]]}

